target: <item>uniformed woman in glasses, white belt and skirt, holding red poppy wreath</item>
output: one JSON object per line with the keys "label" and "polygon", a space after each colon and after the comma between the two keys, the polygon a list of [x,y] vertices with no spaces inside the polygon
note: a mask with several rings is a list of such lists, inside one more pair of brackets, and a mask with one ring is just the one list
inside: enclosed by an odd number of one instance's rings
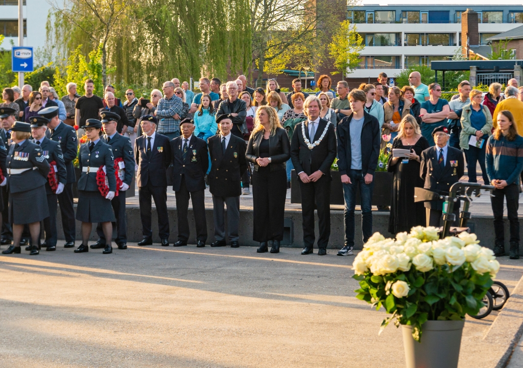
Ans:
{"label": "uniformed woman in glasses, white belt and skirt, holding red poppy wreath", "polygon": [[[82,176],[78,180],[76,219],[82,221],[82,244],[74,253],[89,252],[88,240],[93,229],[93,222],[100,222],[106,239],[106,247],[103,253],[110,254],[112,253],[111,221],[116,221],[111,207],[111,199],[115,197],[116,191],[115,159],[112,156],[111,146],[103,143],[99,137],[101,129],[99,120],[87,119],[82,128],[85,130],[89,141],[80,147],[79,154]],[[98,188],[97,180],[98,170],[104,167],[108,183],[108,188],[105,188],[104,191],[104,193],[107,193],[105,195]],[[101,180],[101,178],[98,179]]]}

